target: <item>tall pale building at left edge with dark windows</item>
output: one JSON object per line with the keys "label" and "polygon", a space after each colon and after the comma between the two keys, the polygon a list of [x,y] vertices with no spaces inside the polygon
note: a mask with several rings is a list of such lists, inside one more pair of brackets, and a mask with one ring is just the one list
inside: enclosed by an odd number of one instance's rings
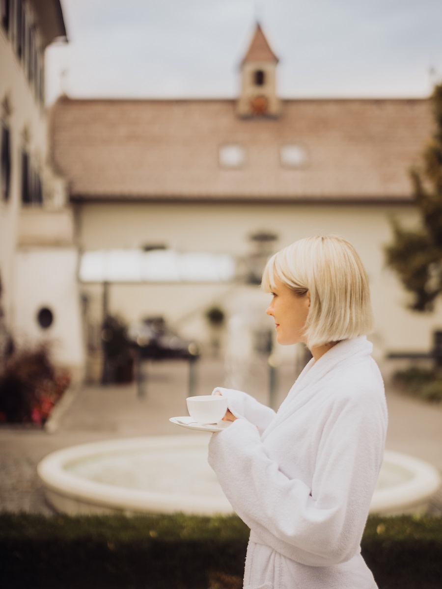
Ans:
{"label": "tall pale building at left edge with dark windows", "polygon": [[52,340],[57,363],[81,371],[73,216],[49,158],[44,106],[45,48],[59,38],[66,39],[59,0],[2,0],[2,340],[5,330],[18,344]]}

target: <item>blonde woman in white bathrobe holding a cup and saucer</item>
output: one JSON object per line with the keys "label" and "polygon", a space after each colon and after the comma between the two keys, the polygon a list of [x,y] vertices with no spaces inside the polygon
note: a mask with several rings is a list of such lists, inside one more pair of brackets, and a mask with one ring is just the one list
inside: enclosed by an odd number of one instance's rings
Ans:
{"label": "blonde woman in white bathrobe holding a cup and saucer", "polygon": [[250,528],[248,589],[375,589],[360,542],[381,467],[387,408],[367,333],[367,274],[348,241],[310,237],[276,253],[262,287],[282,345],[312,359],[278,412],[240,391],[209,464]]}

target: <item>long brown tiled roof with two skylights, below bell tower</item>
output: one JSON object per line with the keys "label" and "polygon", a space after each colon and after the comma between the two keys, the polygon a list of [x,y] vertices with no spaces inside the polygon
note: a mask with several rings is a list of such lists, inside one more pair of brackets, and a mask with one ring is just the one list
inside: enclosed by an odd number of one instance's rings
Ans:
{"label": "long brown tiled roof with two skylights, below bell tower", "polygon": [[[398,200],[431,134],[427,100],[286,100],[241,119],[234,100],[71,100],[51,112],[54,163],[77,200]],[[239,169],[219,165],[240,145]],[[283,145],[308,163],[281,166]]]}

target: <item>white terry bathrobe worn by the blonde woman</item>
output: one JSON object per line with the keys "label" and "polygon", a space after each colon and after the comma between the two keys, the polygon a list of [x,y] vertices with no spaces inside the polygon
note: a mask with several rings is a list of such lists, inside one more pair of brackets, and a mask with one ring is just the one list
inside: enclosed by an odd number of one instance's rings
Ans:
{"label": "white terry bathrobe worn by the blonde woman", "polygon": [[277,413],[215,389],[239,418],[212,435],[209,464],[250,528],[245,588],[377,587],[360,554],[387,430],[371,351],[361,336],[310,360]]}

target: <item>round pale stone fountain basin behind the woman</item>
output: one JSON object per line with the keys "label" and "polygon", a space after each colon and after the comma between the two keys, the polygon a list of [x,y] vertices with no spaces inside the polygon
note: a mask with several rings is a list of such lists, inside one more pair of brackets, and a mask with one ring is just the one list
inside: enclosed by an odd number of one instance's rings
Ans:
{"label": "round pale stone fountain basin behind the woman", "polygon": [[[207,464],[209,438],[199,433],[72,446],[46,456],[38,476],[52,507],[71,515],[230,514],[232,506]],[[424,512],[439,485],[433,466],[385,452],[370,512]]]}

